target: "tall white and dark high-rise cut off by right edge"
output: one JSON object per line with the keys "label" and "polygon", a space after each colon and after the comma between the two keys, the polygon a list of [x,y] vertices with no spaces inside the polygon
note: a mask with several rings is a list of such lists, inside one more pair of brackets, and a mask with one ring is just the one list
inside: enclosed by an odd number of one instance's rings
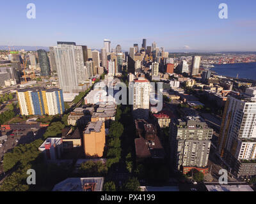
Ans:
{"label": "tall white and dark high-rise cut off by right edge", "polygon": [[256,175],[256,88],[228,96],[219,136],[220,156],[237,177]]}

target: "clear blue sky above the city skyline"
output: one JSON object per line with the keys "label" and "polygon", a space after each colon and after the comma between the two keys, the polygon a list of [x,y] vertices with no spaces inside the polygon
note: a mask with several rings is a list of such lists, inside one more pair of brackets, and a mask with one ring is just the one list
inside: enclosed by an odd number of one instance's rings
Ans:
{"label": "clear blue sky above the city skyline", "polygon": [[[0,45],[44,46],[57,41],[129,50],[156,41],[167,51],[256,51],[255,0],[0,0]],[[27,4],[36,6],[28,19]],[[228,18],[219,18],[219,4]]]}

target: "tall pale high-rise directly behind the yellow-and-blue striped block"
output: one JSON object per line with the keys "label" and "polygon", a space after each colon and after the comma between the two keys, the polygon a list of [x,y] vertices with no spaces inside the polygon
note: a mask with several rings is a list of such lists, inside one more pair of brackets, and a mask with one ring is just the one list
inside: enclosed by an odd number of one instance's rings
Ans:
{"label": "tall pale high-rise directly behind the yellow-and-blue striped block", "polygon": [[63,93],[76,94],[85,91],[83,49],[76,43],[58,42],[52,47],[60,87]]}

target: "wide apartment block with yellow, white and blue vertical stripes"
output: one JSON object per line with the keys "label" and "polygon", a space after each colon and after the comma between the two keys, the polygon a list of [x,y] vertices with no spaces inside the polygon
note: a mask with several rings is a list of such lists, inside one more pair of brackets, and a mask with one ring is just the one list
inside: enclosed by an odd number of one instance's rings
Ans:
{"label": "wide apartment block with yellow, white and blue vertical stripes", "polygon": [[65,111],[60,89],[20,89],[17,98],[21,115],[57,115]]}

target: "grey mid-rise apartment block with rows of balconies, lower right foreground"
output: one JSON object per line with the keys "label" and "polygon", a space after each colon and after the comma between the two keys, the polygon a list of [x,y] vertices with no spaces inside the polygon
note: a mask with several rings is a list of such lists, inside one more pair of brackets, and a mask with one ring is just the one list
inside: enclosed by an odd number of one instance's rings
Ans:
{"label": "grey mid-rise apartment block with rows of balconies, lower right foreground", "polygon": [[173,121],[170,127],[171,158],[175,170],[184,174],[192,169],[208,171],[213,129],[200,117]]}

